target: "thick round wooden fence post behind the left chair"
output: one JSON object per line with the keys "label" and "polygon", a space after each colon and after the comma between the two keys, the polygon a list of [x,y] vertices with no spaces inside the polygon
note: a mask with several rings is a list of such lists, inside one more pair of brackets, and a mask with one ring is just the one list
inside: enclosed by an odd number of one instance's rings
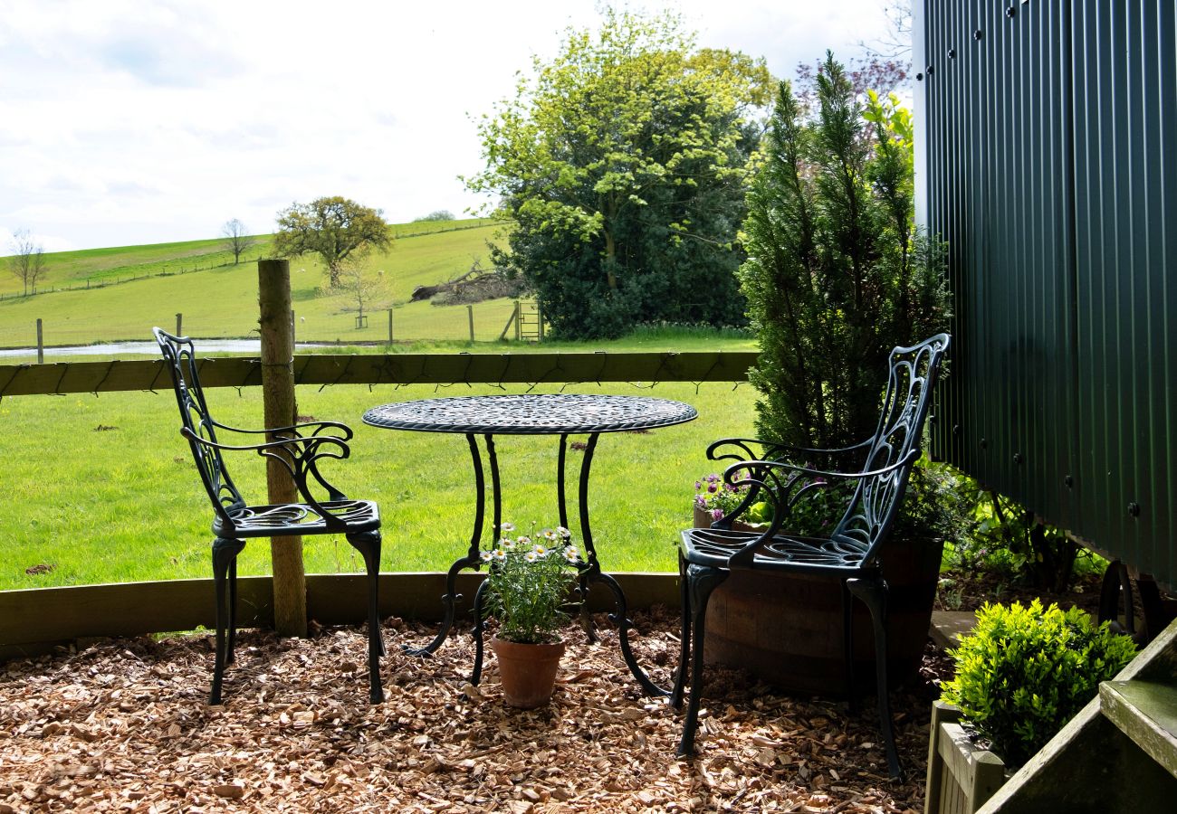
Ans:
{"label": "thick round wooden fence post behind the left chair", "polygon": [[[258,305],[261,327],[261,399],[266,428],[297,423],[294,403],[294,331],[291,323],[288,260],[258,261]],[[268,434],[267,440],[274,440]],[[266,461],[271,503],[299,500],[294,480],[279,461]],[[274,569],[274,629],[284,636],[306,635],[306,569],[302,538],[270,538]]]}

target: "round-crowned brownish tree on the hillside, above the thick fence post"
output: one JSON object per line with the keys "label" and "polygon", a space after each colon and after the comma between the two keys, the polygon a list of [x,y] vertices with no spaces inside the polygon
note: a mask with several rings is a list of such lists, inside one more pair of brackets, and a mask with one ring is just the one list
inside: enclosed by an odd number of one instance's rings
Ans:
{"label": "round-crowned brownish tree on the hillside, above the thick fence post", "polygon": [[345,266],[375,248],[392,246],[384,212],[338,195],[310,204],[292,204],[278,213],[274,251],[279,256],[318,254],[327,267],[330,285],[338,288]]}

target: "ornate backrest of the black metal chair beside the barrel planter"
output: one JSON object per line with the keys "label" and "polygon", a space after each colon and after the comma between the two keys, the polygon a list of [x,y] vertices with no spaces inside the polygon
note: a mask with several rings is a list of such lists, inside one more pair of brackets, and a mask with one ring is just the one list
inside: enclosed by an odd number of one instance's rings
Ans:
{"label": "ornate backrest of the black metal chair beside the barrel planter", "polygon": [[858,551],[865,549],[866,565],[878,558],[878,548],[903,505],[947,347],[949,335],[937,334],[910,348],[897,347],[891,352],[886,394],[863,472],[883,469],[899,461],[906,463],[859,481],[832,534],[833,539]]}

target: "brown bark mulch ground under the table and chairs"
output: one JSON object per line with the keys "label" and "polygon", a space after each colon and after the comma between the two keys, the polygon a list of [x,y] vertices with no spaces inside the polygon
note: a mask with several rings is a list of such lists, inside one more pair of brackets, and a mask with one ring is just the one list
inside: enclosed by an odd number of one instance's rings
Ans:
{"label": "brown bark mulch ground under the table and chairs", "polygon": [[[666,681],[676,622],[638,614],[634,649]],[[365,635],[245,632],[225,703],[206,703],[210,636],[102,640],[0,665],[0,814],[13,812],[918,812],[932,680],[893,694],[904,782],[886,778],[873,699],[790,698],[711,670],[699,754],[674,758],[681,719],[643,698],[600,619],[570,628],[550,707],[503,703],[493,655],[466,685],[473,645],[430,659],[430,629],[392,619],[387,700],[367,702]]]}

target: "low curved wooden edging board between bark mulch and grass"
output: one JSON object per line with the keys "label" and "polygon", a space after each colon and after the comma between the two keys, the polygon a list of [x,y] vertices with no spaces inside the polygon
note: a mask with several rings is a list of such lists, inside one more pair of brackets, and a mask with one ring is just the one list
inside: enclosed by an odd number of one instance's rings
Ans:
{"label": "low curved wooden edging board between bark mulch and grass", "polygon": [[[613,574],[630,610],[678,606],[678,574]],[[459,616],[470,612],[483,574],[458,575]],[[367,619],[363,574],[312,574],[307,615],[320,625],[361,625]],[[380,574],[380,615],[441,619],[445,574]],[[612,610],[612,594],[598,586],[588,595],[592,610]],[[273,627],[270,576],[238,580],[238,625]],[[193,630],[215,626],[212,579],[121,582],[68,588],[0,592],[0,661],[52,652],[54,647],[106,636]]]}

